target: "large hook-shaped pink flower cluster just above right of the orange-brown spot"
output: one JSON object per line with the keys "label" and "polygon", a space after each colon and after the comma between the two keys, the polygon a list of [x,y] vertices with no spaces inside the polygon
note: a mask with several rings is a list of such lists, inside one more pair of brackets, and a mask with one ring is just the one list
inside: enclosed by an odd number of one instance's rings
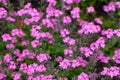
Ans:
{"label": "large hook-shaped pink flower cluster just above right of the orange-brown spot", "polygon": [[42,13],[40,13],[37,9],[32,8],[31,3],[27,3],[24,9],[17,11],[16,15],[17,16],[30,15],[31,18],[24,19],[24,23],[26,25],[29,25],[33,22],[38,22],[42,16]]}

